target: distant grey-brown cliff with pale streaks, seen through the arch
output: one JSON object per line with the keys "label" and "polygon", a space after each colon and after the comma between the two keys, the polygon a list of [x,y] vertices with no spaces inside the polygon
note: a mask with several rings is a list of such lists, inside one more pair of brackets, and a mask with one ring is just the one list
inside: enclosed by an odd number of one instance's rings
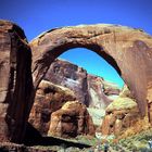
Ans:
{"label": "distant grey-brown cliff with pale streaks, seen through the arch", "polygon": [[105,109],[111,96],[118,96],[119,89],[103,78],[87,73],[86,69],[63,60],[55,60],[45,79],[72,89],[76,99],[89,107]]}

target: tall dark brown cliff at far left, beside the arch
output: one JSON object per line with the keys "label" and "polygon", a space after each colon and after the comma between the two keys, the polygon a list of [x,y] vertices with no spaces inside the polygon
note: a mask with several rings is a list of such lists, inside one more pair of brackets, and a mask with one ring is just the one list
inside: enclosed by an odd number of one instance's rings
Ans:
{"label": "tall dark brown cliff at far left, beside the arch", "polygon": [[31,53],[24,31],[0,21],[0,142],[21,142],[31,104]]}

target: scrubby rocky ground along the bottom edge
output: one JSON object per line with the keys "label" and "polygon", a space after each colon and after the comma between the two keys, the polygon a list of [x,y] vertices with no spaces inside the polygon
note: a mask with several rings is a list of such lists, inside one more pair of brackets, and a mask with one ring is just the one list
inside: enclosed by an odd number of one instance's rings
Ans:
{"label": "scrubby rocky ground along the bottom edge", "polygon": [[[152,152],[148,141],[152,138],[152,129],[117,139],[115,136],[88,137],[78,136],[75,139],[58,139],[62,141],[59,145],[24,145],[14,143],[1,143],[1,152],[103,152],[104,143],[109,145],[109,152]],[[56,139],[56,138],[55,138]],[[65,142],[63,142],[65,141]]]}

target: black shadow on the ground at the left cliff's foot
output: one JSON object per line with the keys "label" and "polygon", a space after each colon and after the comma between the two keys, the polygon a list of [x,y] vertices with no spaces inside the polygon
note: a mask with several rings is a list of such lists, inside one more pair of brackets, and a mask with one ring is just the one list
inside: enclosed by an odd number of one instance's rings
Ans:
{"label": "black shadow on the ground at the left cliff's foot", "polygon": [[89,144],[66,141],[54,137],[42,137],[39,131],[34,128],[29,123],[27,125],[24,144],[28,147],[33,145],[61,145],[64,148],[75,147],[79,149],[90,148]]}

